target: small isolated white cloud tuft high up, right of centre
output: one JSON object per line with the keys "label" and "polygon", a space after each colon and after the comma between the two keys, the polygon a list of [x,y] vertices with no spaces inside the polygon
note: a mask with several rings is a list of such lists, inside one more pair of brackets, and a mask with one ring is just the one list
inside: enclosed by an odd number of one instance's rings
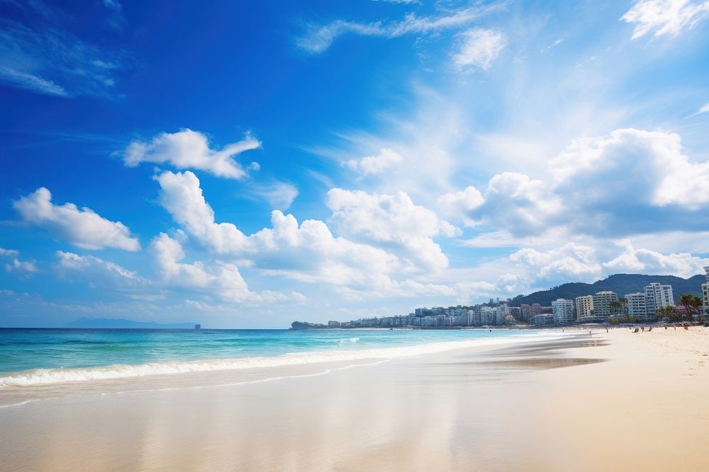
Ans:
{"label": "small isolated white cloud tuft high up, right of centre", "polygon": [[504,33],[481,28],[459,33],[456,38],[458,45],[457,51],[453,54],[453,64],[459,70],[490,69],[493,60],[507,44]]}

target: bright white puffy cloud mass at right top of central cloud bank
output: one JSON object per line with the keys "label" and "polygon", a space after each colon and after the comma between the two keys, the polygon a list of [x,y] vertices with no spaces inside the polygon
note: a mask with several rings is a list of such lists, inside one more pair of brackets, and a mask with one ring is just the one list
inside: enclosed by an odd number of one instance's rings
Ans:
{"label": "bright white puffy cloud mass at right top of central cloud bank", "polygon": [[335,188],[328,192],[328,207],[337,232],[352,241],[381,245],[419,270],[442,270],[448,265],[433,238],[455,236],[457,229],[430,209],[414,205],[404,192],[381,195]]}

